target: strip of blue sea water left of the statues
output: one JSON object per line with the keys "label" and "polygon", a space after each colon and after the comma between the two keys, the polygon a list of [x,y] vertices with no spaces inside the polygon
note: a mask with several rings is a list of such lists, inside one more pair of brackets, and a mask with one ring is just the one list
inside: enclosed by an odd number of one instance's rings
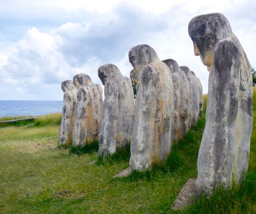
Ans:
{"label": "strip of blue sea water left of the statues", "polygon": [[0,100],[0,117],[60,113],[63,101]]}

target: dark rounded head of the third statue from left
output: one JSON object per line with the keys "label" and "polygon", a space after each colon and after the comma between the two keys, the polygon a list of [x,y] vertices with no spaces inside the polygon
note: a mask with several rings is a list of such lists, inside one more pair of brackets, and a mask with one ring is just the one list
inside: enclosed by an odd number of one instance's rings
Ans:
{"label": "dark rounded head of the third statue from left", "polygon": [[121,72],[119,68],[113,64],[105,64],[99,67],[98,69],[98,76],[100,77],[103,85],[105,85],[105,83],[108,80],[111,80],[120,75],[121,75]]}

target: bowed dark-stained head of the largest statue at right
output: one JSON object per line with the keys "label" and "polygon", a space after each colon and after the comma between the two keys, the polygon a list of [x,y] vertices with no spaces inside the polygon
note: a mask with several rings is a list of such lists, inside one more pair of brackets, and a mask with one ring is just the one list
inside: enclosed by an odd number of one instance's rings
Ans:
{"label": "bowed dark-stained head of the largest statue at right", "polygon": [[229,21],[222,13],[199,15],[189,22],[189,36],[194,44],[194,53],[208,67],[212,64],[216,43],[231,35]]}

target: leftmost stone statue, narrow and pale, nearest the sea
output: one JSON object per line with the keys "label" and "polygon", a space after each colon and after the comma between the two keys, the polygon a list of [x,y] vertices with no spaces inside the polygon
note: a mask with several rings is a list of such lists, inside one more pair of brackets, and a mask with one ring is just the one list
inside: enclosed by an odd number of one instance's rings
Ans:
{"label": "leftmost stone statue, narrow and pale, nearest the sea", "polygon": [[61,83],[63,95],[63,108],[60,126],[60,145],[69,146],[72,142],[72,130],[74,125],[74,110],[77,103],[76,87],[72,80],[66,80]]}

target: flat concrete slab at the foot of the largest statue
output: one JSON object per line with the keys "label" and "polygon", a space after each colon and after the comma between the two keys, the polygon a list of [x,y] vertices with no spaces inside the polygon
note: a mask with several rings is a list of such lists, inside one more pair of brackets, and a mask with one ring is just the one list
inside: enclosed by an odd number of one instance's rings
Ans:
{"label": "flat concrete slab at the foot of the largest statue", "polygon": [[195,195],[195,178],[190,178],[187,183],[182,187],[181,192],[175,200],[173,209],[183,209],[188,207],[192,202]]}

